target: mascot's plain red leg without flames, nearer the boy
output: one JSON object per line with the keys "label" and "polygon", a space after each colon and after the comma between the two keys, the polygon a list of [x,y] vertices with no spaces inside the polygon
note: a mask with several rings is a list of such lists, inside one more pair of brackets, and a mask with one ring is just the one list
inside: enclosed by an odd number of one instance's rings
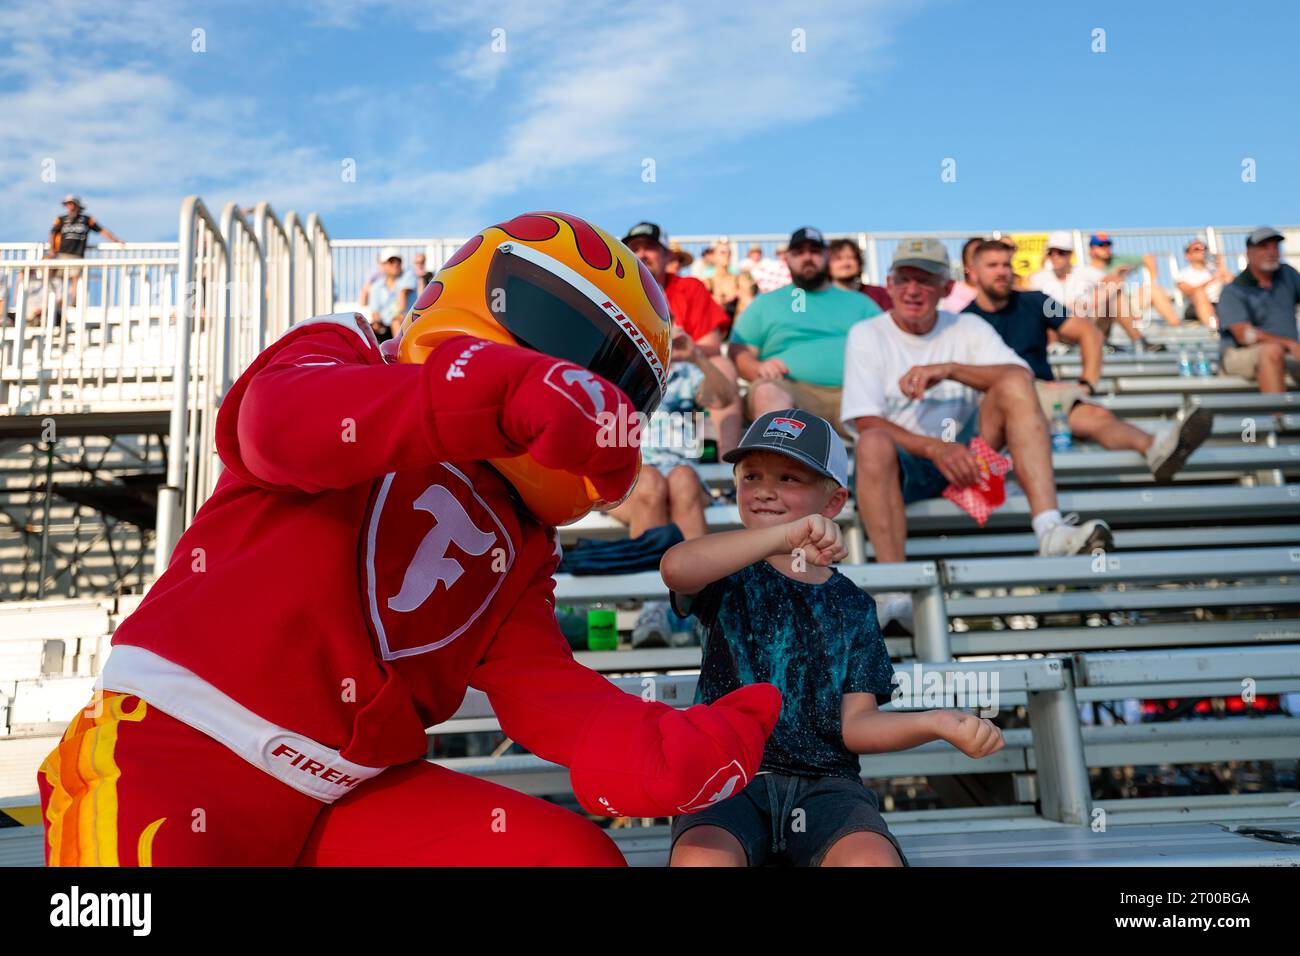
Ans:
{"label": "mascot's plain red leg without flames, nearer the boy", "polygon": [[601,827],[545,800],[419,761],[325,809],[304,866],[625,866]]}

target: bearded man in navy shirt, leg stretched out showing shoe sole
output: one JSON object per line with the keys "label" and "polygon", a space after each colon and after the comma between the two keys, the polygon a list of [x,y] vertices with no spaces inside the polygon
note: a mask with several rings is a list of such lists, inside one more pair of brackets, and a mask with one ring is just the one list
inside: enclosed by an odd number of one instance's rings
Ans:
{"label": "bearded man in navy shirt, leg stretched out showing shoe sole", "polygon": [[[1060,405],[1074,437],[1096,441],[1104,449],[1140,451],[1157,481],[1173,479],[1209,437],[1213,412],[1183,408],[1158,436],[1150,436],[1091,402],[1101,377],[1101,333],[1086,317],[1067,315],[1058,302],[1043,293],[1013,289],[1011,255],[1011,247],[998,239],[980,239],[972,247],[967,274],[975,281],[978,294],[966,311],[983,316],[1028,364],[1039,405],[1049,421],[1054,406]],[[1083,377],[1078,381],[1056,381],[1048,362],[1048,330],[1079,345]]]}

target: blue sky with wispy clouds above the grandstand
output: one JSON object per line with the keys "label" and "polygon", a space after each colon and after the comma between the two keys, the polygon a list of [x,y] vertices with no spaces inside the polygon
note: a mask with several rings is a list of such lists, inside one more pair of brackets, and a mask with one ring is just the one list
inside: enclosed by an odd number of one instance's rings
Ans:
{"label": "blue sky with wispy clouds above the grandstand", "polygon": [[335,237],[537,208],[677,234],[1300,221],[1295,4],[4,7],[0,241],[66,191],[140,241],[188,193]]}

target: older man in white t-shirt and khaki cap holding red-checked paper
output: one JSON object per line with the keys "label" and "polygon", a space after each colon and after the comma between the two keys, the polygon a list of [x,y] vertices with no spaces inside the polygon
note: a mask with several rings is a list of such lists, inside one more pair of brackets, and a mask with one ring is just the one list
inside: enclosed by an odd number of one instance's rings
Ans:
{"label": "older man in white t-shirt and khaki cap holding red-checked paper", "polygon": [[[1075,524],[1057,509],[1048,423],[1028,364],[979,316],[939,311],[952,291],[949,271],[937,239],[901,242],[889,267],[893,310],[849,333],[841,418],[858,433],[857,503],[876,561],[906,557],[906,505],[979,483],[967,447],[976,434],[1010,449],[1039,554],[1109,548],[1105,522]],[[881,626],[911,630],[910,594],[876,600]]]}

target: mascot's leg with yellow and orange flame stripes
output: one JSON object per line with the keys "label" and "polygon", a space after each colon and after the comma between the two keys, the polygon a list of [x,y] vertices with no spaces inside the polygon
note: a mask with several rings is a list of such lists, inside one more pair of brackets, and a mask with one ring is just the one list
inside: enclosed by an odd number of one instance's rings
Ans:
{"label": "mascot's leg with yellow and orange flame stripes", "polygon": [[49,866],[291,866],[324,804],[105,691],[36,774]]}

